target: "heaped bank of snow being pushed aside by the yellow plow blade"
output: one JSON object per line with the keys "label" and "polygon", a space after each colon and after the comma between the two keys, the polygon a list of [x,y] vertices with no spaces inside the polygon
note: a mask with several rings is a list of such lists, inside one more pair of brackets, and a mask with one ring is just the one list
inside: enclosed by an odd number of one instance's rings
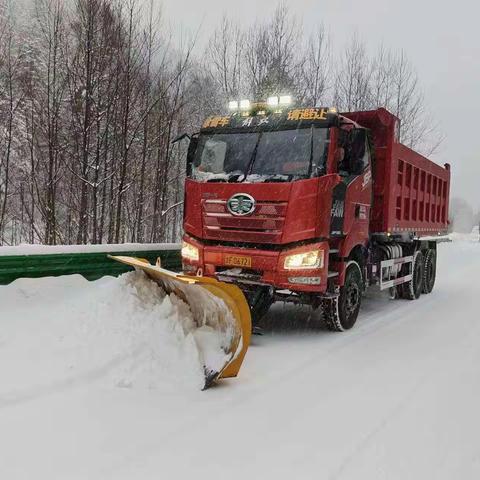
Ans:
{"label": "heaped bank of snow being pushed aside by the yellow plow blade", "polygon": [[4,401],[85,379],[198,389],[204,365],[218,371],[225,363],[232,335],[212,328],[211,312],[199,321],[195,308],[141,272],[97,282],[77,275],[20,279],[0,289],[0,305]]}

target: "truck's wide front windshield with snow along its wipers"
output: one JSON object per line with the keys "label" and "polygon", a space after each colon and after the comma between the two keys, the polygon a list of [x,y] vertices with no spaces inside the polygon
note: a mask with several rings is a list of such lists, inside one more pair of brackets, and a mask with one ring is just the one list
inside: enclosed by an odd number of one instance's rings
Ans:
{"label": "truck's wide front windshield with snow along its wipers", "polygon": [[328,129],[201,134],[192,176],[207,182],[291,181],[324,173]]}

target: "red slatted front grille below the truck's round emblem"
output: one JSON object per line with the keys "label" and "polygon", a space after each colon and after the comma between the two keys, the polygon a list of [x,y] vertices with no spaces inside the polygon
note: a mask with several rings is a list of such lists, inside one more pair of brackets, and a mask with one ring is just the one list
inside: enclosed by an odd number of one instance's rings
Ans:
{"label": "red slatted front grille below the truck's round emblem", "polygon": [[258,202],[244,217],[232,215],[225,200],[204,200],[202,209],[206,238],[269,243],[281,239],[287,202]]}

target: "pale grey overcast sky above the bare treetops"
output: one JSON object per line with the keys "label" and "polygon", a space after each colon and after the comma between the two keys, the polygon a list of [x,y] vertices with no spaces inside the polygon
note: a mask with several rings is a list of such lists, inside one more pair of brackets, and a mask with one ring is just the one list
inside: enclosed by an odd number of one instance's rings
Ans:
{"label": "pale grey overcast sky above the bare treetops", "polygon": [[[159,1],[159,0],[155,0]],[[177,31],[203,37],[224,13],[250,23],[268,18],[277,0],[162,0]],[[434,160],[452,165],[453,194],[480,208],[480,3],[477,0],[289,0],[310,29],[324,23],[336,48],[357,31],[375,49],[403,48],[446,139]]]}

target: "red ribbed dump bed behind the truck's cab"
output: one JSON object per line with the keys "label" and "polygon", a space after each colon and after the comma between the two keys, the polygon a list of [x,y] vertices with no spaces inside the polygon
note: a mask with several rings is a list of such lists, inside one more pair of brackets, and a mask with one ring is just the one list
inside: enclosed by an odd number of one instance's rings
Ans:
{"label": "red ribbed dump bed behind the truck's cab", "polygon": [[375,145],[370,232],[446,233],[449,165],[441,167],[398,142],[400,121],[383,108],[345,116],[370,129]]}

